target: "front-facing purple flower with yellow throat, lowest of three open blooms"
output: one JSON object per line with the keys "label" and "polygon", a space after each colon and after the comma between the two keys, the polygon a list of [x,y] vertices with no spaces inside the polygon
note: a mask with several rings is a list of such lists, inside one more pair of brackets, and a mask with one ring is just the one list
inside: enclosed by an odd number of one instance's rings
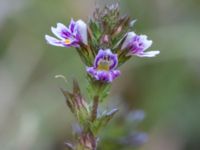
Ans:
{"label": "front-facing purple flower with yellow throat, lowest of three open blooms", "polygon": [[117,54],[113,54],[110,49],[100,49],[93,65],[87,67],[87,72],[96,80],[110,83],[120,75],[120,71],[115,70],[118,65]]}

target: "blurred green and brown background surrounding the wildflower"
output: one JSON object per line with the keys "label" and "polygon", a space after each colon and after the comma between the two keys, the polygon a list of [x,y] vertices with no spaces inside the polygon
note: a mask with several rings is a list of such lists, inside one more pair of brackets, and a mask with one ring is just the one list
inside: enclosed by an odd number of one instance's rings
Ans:
{"label": "blurred green and brown background surrounding the wildflower", "polygon": [[[70,88],[76,78],[85,91],[85,66],[74,49],[47,45],[44,35],[51,34],[50,27],[57,22],[68,24],[71,17],[87,21],[95,3],[102,1],[0,1],[0,150],[64,150],[64,141],[72,139],[75,120],[59,87]],[[149,35],[152,49],[161,54],[152,59],[134,57],[121,67],[122,75],[104,104],[119,107],[120,112],[105,136],[123,131],[120,117],[143,109],[146,118],[139,130],[147,132],[149,140],[139,150],[199,150],[200,1],[120,4],[122,12],[138,20],[135,31]],[[69,83],[55,79],[57,74],[65,75]],[[114,150],[112,142],[100,145]]]}

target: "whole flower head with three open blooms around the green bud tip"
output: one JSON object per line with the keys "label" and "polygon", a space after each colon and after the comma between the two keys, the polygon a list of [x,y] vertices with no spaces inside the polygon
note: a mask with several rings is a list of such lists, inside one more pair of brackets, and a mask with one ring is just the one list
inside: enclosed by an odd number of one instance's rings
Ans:
{"label": "whole flower head with three open blooms around the green bud tip", "polygon": [[122,64],[131,56],[154,57],[159,54],[159,51],[146,52],[153,42],[146,35],[129,31],[129,17],[120,17],[118,11],[117,5],[101,12],[97,9],[88,25],[73,19],[69,27],[58,23],[56,28],[51,28],[57,39],[49,35],[45,38],[54,46],[75,47],[83,62],[90,65],[86,67],[87,73],[95,80],[111,83],[120,75],[117,70],[119,61]]}

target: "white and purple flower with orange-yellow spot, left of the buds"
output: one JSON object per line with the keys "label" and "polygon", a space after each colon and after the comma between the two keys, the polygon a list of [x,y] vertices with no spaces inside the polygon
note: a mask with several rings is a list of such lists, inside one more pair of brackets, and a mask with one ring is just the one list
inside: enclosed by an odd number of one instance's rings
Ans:
{"label": "white and purple flower with orange-yellow spot, left of the buds", "polygon": [[57,37],[45,36],[51,45],[60,47],[79,47],[80,43],[87,45],[87,25],[82,20],[75,22],[71,19],[69,27],[57,23],[57,27],[52,27],[51,31]]}

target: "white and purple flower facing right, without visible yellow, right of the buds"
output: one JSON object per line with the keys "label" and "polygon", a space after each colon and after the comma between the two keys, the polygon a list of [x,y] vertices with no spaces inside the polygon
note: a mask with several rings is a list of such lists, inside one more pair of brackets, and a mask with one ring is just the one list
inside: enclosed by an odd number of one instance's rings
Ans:
{"label": "white and purple flower facing right, without visible yellow, right of the buds", "polygon": [[152,45],[152,41],[147,39],[146,35],[137,35],[134,32],[129,32],[122,44],[121,49],[128,49],[128,55],[136,55],[139,57],[155,57],[160,51],[145,52]]}

